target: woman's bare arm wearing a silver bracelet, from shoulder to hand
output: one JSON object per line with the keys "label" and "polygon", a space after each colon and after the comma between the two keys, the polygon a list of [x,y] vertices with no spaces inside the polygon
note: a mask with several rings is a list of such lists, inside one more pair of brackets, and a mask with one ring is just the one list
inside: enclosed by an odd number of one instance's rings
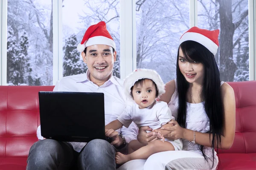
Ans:
{"label": "woman's bare arm wearing a silver bracelet, from shoulder to hand", "polygon": [[[221,136],[221,144],[218,147],[221,149],[229,149],[235,138],[236,130],[236,102],[235,94],[233,88],[227,83],[221,86],[221,96],[224,102],[224,128],[223,136]],[[183,138],[188,141],[193,141],[194,132],[193,130],[182,128],[178,125],[176,121],[171,121],[173,126],[168,127],[168,125],[163,126],[165,130],[170,130],[171,132],[164,136],[168,139],[178,139]],[[172,135],[171,135],[172,134]],[[216,138],[215,138],[216,139]],[[195,132],[195,142],[204,146],[212,146],[212,134]],[[215,146],[217,146],[217,140],[215,140]]]}

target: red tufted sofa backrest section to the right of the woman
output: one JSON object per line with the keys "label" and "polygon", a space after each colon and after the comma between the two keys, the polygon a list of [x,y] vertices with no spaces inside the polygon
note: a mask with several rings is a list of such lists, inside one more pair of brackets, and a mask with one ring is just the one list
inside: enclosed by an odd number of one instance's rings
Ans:
{"label": "red tufted sofa backrest section to the right of the woman", "polygon": [[219,153],[256,153],[256,81],[228,84],[236,97],[236,135],[232,147]]}

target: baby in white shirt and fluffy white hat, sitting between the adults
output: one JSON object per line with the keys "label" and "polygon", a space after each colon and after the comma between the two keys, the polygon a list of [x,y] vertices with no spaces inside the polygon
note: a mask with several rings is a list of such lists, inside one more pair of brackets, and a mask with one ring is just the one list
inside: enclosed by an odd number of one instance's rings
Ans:
{"label": "baby in white shirt and fluffy white hat, sitting between the adults", "polygon": [[[149,126],[156,130],[174,119],[166,102],[158,102],[157,97],[165,93],[163,80],[154,70],[137,69],[124,82],[125,95],[134,100],[134,105],[128,105],[125,111],[114,121],[105,126],[106,130],[117,130],[122,126],[129,127],[134,122],[138,127]],[[169,131],[160,130],[157,140],[145,145],[137,140],[128,144],[128,155],[116,153],[116,164],[124,164],[134,159],[148,159],[154,153],[182,150],[181,139],[169,140],[163,136]],[[166,133],[165,133],[166,132]],[[165,133],[165,134],[164,134]],[[166,142],[164,142],[166,141]]]}

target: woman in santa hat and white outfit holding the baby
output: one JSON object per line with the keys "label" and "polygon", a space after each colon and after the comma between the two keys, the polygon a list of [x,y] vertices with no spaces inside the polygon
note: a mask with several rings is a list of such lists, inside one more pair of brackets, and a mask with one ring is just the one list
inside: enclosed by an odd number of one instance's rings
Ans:
{"label": "woman in santa hat and white outfit holding the baby", "polygon": [[[167,102],[175,120],[165,125],[167,139],[182,139],[182,151],[156,153],[145,160],[127,162],[120,169],[213,169],[218,165],[214,148],[229,149],[234,140],[236,117],[233,88],[220,81],[215,54],[219,30],[190,28],[180,38],[177,79],[166,84],[160,100]],[[137,136],[147,144],[155,139],[149,127]]]}

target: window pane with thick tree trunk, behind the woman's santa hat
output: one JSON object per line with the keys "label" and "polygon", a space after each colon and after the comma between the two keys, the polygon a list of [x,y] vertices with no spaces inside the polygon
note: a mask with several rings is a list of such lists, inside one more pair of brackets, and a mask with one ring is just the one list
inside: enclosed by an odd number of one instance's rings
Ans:
{"label": "window pane with thick tree trunk, behind the woman's santa hat", "polygon": [[198,26],[220,29],[215,59],[221,80],[249,80],[248,0],[198,0]]}

